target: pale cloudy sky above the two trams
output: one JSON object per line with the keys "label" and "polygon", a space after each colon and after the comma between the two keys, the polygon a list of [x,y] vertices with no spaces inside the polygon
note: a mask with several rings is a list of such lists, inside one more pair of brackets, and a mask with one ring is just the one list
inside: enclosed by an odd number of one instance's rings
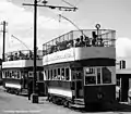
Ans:
{"label": "pale cloudy sky above the two trams", "polygon": [[[39,0],[39,4],[43,0]],[[59,18],[62,14],[80,28],[94,29],[99,23],[104,29],[116,30],[117,56],[131,56],[131,0],[48,0],[48,4],[67,5],[63,1],[79,8],[75,12],[63,12],[48,8],[38,8],[37,47],[70,30],[76,29],[71,23]],[[2,58],[2,22],[5,21],[5,52],[27,50],[15,38],[33,49],[34,9],[23,5],[34,0],[0,0],[0,58]]]}

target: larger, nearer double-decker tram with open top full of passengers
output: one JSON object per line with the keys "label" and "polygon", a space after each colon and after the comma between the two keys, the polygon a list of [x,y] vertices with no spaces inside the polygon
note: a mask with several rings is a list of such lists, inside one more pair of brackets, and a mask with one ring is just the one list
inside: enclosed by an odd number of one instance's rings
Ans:
{"label": "larger, nearer double-decker tram with open top full of passengers", "polygon": [[72,30],[43,45],[48,100],[103,104],[116,100],[116,31]]}

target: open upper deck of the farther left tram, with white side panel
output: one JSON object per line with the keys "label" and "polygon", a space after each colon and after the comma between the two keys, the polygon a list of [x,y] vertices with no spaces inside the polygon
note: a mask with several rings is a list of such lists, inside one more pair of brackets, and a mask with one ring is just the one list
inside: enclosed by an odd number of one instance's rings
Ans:
{"label": "open upper deck of the farther left tram, with white side panel", "polygon": [[[37,50],[37,66],[41,66],[43,51]],[[20,50],[5,53],[5,61],[2,62],[3,68],[29,67],[33,66],[34,51]]]}

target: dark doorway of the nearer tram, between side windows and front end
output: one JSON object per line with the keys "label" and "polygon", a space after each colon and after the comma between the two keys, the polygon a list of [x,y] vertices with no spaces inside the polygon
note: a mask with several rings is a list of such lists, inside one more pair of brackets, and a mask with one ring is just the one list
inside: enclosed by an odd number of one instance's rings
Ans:
{"label": "dark doorway of the nearer tram, between side windows and front end", "polygon": [[82,67],[75,67],[72,71],[72,78],[74,83],[74,96],[76,99],[80,99],[83,97],[83,89],[82,89]]}

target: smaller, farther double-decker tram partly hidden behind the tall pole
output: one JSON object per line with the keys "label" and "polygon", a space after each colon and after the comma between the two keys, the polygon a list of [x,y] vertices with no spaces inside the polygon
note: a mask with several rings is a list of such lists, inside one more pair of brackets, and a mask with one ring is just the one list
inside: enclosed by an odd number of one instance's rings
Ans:
{"label": "smaller, farther double-decker tram partly hidden behind the tall pole", "polygon": [[[33,80],[34,52],[20,50],[5,53],[5,61],[2,62],[3,87],[8,92],[16,94],[28,93],[28,83]],[[37,50],[37,84],[41,88],[43,77],[43,51]],[[43,89],[43,88],[41,88]]]}

